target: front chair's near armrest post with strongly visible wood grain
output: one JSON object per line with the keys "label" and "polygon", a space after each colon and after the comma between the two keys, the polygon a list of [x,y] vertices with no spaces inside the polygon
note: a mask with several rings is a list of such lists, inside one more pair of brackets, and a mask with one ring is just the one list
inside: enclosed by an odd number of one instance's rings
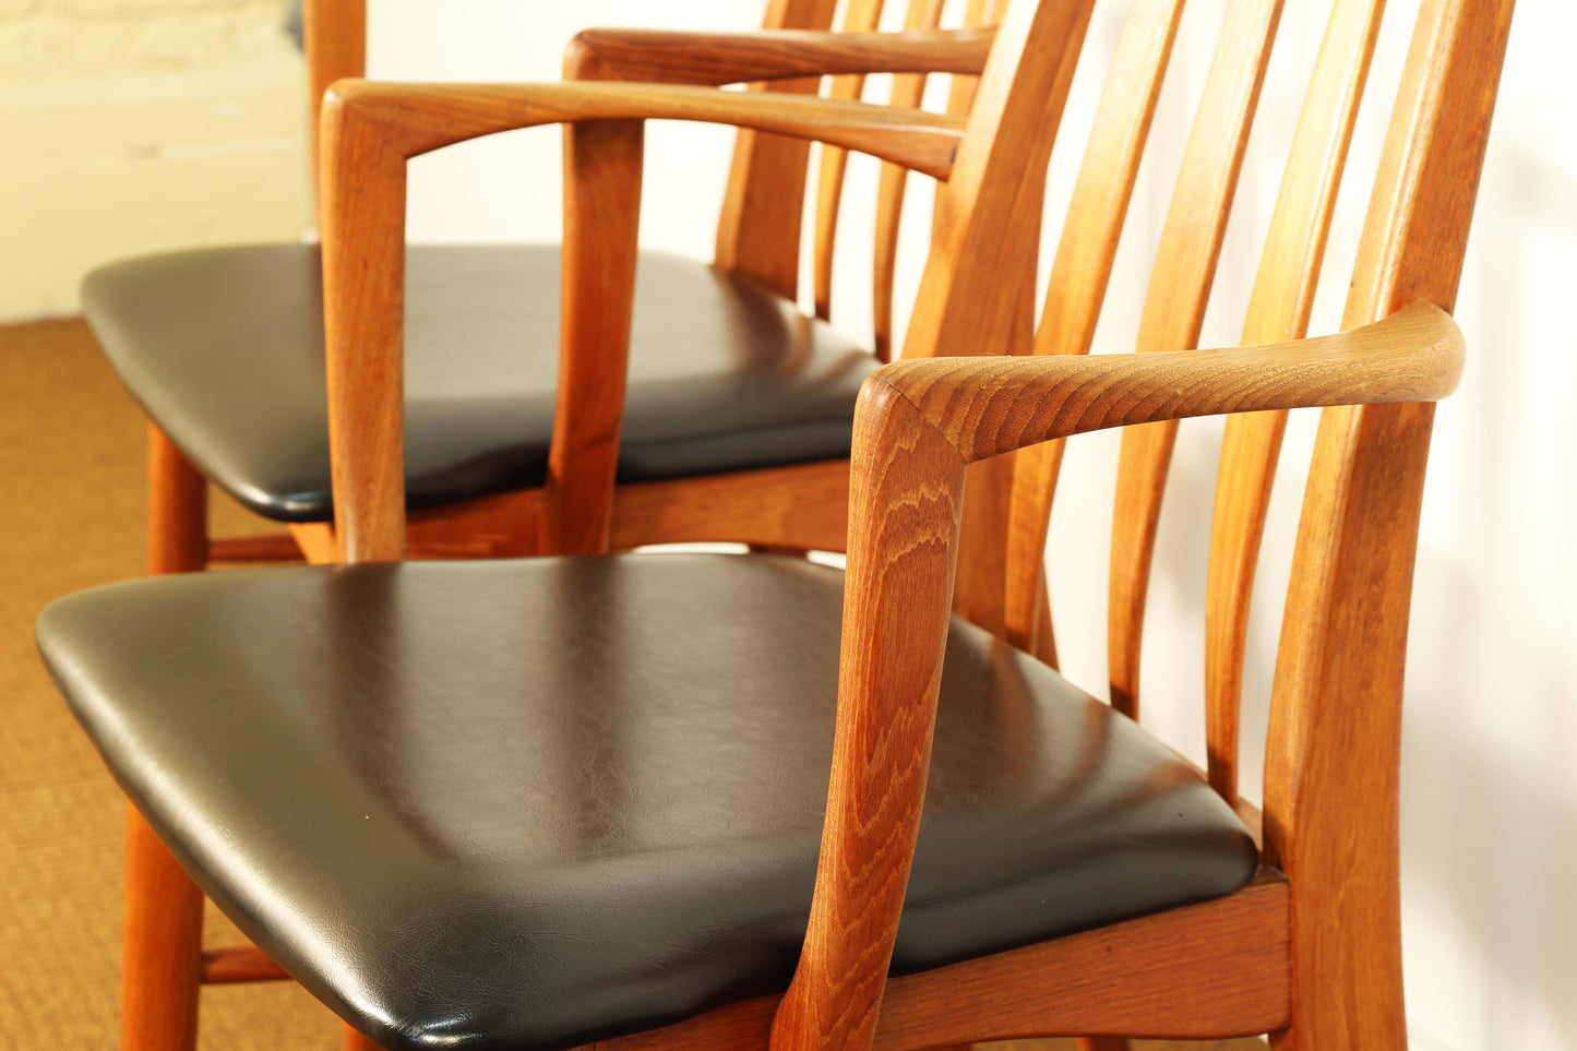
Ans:
{"label": "front chair's near armrest post with strongly visible wood grain", "polygon": [[964,458],[912,402],[869,382],[855,450],[831,789],[774,1048],[871,1045],[930,767]]}

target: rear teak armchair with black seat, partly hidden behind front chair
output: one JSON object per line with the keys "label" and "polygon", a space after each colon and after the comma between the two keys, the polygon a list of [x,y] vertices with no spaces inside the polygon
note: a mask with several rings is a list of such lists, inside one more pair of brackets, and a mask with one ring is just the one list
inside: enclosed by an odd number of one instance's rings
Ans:
{"label": "rear teak armchair with black seat, partly hidden behind front chair", "polygon": [[[710,85],[770,79],[809,95],[823,74],[841,74],[831,79],[841,98],[856,95],[866,73],[919,74],[897,77],[897,106],[918,104],[924,73],[951,73],[959,82],[953,109],[967,112],[971,74],[990,46],[984,0],[967,13],[973,28],[949,32],[937,30],[941,5],[932,0],[912,0],[908,32],[869,32],[882,6],[848,5],[845,28],[866,32],[836,35],[822,32],[833,21],[831,0],[776,0],[766,14],[774,32],[765,35],[588,32],[569,47],[565,73]],[[308,3],[304,36],[311,96],[320,99],[334,79],[361,76],[364,0]],[[820,317],[795,308],[807,148],[801,139],[743,133],[714,264],[642,256],[636,292],[626,292],[636,298],[636,353],[623,484],[607,526],[617,548],[673,540],[842,546],[853,402],[885,357],[872,346],[885,352],[889,339],[907,172],[883,174],[877,325],[874,344],[861,344],[825,324],[841,150],[825,151],[820,180]],[[557,248],[413,246],[405,265],[412,554],[554,549],[541,503],[546,480],[563,480],[547,459]],[[87,279],[88,322],[153,421],[153,571],[203,568],[210,559],[339,557],[328,526],[320,282],[312,245],[173,252]],[[211,540],[205,480],[289,522],[292,537]]]}

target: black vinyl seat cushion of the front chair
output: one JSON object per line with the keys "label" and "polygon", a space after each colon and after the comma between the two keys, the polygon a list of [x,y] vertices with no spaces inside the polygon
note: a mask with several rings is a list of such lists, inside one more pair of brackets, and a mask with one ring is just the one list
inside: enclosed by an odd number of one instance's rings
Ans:
{"label": "black vinyl seat cushion of the front chair", "polygon": [[[787,988],[841,601],[768,555],[303,567],[101,587],[38,638],[208,895],[380,1046],[565,1048]],[[1255,863],[1192,767],[953,622],[894,972]]]}

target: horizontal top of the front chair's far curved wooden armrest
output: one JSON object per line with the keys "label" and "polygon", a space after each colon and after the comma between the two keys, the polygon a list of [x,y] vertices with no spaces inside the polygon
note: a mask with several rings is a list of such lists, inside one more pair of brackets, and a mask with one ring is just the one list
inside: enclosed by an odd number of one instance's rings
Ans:
{"label": "horizontal top of the front chair's far curved wooden armrest", "polygon": [[935,178],[953,170],[964,137],[960,117],[691,85],[339,80],[323,103],[326,137],[342,136],[355,122],[402,158],[500,131],[583,120],[697,120],[755,128],[871,153]]}

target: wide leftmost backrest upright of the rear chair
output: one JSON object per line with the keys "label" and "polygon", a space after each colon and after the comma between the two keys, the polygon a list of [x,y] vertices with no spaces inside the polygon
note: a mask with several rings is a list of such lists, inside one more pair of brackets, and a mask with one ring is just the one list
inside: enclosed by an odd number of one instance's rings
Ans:
{"label": "wide leftmost backrest upright of the rear chair", "polygon": [[[836,0],[771,0],[766,28],[825,30]],[[752,88],[814,95],[818,77],[776,80]],[[811,145],[763,131],[740,131],[729,169],[729,191],[718,219],[718,265],[760,281],[793,300],[800,289],[800,224]]]}

